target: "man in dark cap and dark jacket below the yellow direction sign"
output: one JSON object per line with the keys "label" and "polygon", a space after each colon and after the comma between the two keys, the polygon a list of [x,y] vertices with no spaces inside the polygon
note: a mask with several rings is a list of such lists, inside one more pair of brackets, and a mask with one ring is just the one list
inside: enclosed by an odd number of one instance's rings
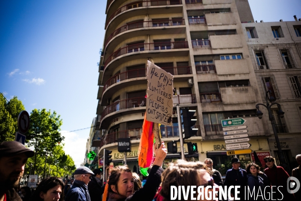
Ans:
{"label": "man in dark cap and dark jacket below the yellow direction sign", "polygon": [[[239,193],[237,193],[237,197],[240,200],[244,200],[245,197],[245,186],[247,185],[247,171],[240,168],[240,161],[238,158],[232,158],[231,160],[232,169],[229,169],[226,173],[226,178],[224,182],[224,186],[240,186],[238,188]],[[231,196],[234,197],[235,191],[234,188],[231,189]]]}

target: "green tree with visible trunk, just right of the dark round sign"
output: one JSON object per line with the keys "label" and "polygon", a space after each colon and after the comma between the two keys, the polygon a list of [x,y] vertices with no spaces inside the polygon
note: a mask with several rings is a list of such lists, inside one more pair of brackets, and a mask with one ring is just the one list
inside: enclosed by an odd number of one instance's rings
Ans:
{"label": "green tree with visible trunk, just right of the dark round sign", "polygon": [[[64,137],[59,132],[62,125],[60,115],[46,109],[34,109],[30,114],[30,128],[27,133],[27,144],[34,146],[35,158],[33,164],[33,173],[36,171],[37,156],[44,155],[44,151],[53,152],[58,142]],[[44,160],[45,162],[45,160]]]}

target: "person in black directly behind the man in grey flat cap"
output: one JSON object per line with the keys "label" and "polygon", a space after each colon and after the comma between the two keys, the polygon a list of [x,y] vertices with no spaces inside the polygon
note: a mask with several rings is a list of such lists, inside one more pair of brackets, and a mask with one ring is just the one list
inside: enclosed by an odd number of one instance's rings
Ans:
{"label": "person in black directly behind the man in grey flat cap", "polygon": [[97,168],[93,170],[94,176],[88,184],[88,190],[91,201],[99,200],[99,197],[103,194],[104,186],[102,185],[102,171]]}

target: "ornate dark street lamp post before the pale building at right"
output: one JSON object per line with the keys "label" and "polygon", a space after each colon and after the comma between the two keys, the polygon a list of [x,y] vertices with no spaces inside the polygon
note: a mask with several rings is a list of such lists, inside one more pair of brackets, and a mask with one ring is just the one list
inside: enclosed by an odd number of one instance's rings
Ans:
{"label": "ornate dark street lamp post before the pale building at right", "polygon": [[[269,98],[267,96],[268,94],[270,95]],[[269,104],[267,100],[269,100],[271,104]],[[278,148],[279,160],[280,160],[280,163],[281,163],[280,165],[282,167],[284,167],[284,169],[287,169],[287,164],[285,163],[284,154],[282,152],[280,142],[279,142],[279,138],[278,138],[278,135],[277,135],[277,130],[276,130],[276,127],[275,127],[275,118],[273,117],[272,112],[271,112],[271,106],[272,105],[277,105],[278,115],[279,115],[280,118],[284,117],[284,112],[281,110],[281,105],[276,103],[276,99],[273,96],[271,96],[271,90],[268,90],[265,93],[265,101],[266,101],[266,105],[264,105],[262,103],[256,104],[256,109],[257,109],[256,115],[259,119],[262,118],[263,113],[259,110],[259,105],[262,105],[267,109],[268,117],[269,117],[269,120],[271,121],[271,124],[272,124],[273,132],[274,132],[274,136],[275,136],[275,140],[276,140],[276,144],[277,144],[277,148]]]}

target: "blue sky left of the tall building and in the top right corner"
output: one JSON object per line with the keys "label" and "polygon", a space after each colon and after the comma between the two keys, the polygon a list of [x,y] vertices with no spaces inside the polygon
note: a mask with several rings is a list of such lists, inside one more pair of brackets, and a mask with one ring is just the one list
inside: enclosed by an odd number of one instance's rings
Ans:
{"label": "blue sky left of the tall building and in the top right corner", "polygon": [[[254,20],[301,18],[300,0],[249,0]],[[18,96],[28,112],[55,110],[62,130],[89,127],[96,117],[104,0],[2,0],[0,92]],[[65,133],[65,151],[83,162],[90,129]]]}

